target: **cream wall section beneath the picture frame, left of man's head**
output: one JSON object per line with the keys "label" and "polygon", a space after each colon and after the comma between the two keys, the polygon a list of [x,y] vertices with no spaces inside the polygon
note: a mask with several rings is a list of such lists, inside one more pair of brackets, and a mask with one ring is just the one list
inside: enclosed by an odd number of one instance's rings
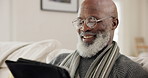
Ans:
{"label": "cream wall section beneath the picture frame, left of man's head", "polygon": [[40,0],[13,0],[12,4],[13,41],[57,39],[66,44],[64,48],[75,48],[72,20],[77,13],[42,11]]}

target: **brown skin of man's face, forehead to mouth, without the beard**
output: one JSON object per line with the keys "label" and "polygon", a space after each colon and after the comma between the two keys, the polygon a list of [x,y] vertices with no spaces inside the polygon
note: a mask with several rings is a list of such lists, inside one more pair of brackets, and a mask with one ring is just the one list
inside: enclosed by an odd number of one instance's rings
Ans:
{"label": "brown skin of man's face, forehead to mouth, without the beard", "polygon": [[[105,15],[104,11],[93,6],[84,6],[81,8],[79,15],[81,19],[86,19],[91,16],[97,18],[98,20],[101,18],[109,17]],[[109,19],[111,18],[107,18],[100,22],[97,22],[93,28],[88,27],[86,23],[84,23],[83,26],[78,29],[78,33],[82,42],[91,45],[94,43],[96,38],[98,38],[97,34],[102,34],[103,32],[109,31]]]}

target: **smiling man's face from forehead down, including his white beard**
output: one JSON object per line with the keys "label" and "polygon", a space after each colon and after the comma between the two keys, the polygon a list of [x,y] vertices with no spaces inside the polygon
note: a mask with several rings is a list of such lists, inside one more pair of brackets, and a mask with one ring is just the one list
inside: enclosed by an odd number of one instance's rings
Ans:
{"label": "smiling man's face from forehead down, including his white beard", "polygon": [[[80,10],[79,17],[81,19],[86,19],[88,17],[95,17],[97,19],[109,17],[104,11],[103,7],[96,8],[95,5],[85,5],[82,6]],[[83,24],[82,27],[78,29],[78,51],[81,56],[91,57],[95,55],[98,51],[102,50],[110,41],[110,22],[111,18],[104,19],[98,22],[93,28],[90,28]]]}

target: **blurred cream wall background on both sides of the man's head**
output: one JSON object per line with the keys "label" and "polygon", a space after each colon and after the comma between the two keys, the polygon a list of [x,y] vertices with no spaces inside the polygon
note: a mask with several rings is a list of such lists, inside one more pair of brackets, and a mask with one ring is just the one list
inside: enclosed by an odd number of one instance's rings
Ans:
{"label": "blurred cream wall background on both sides of the man's head", "polygon": [[[78,5],[83,0],[78,0]],[[114,0],[119,26],[114,40],[125,55],[137,56],[137,45],[148,43],[148,0]],[[41,10],[41,0],[0,0],[0,42],[56,39],[63,48],[75,49],[77,33],[72,20],[77,13]],[[137,38],[142,43],[137,44]],[[147,46],[144,48],[146,49]]]}

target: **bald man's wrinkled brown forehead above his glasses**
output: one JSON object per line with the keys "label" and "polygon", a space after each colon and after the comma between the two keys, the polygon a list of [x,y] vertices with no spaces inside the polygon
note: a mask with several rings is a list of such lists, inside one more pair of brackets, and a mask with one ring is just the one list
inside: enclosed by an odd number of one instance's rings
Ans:
{"label": "bald man's wrinkled brown forehead above his glasses", "polygon": [[109,2],[108,1],[99,1],[99,0],[85,0],[81,8],[79,9],[78,16],[106,16],[109,10]]}

